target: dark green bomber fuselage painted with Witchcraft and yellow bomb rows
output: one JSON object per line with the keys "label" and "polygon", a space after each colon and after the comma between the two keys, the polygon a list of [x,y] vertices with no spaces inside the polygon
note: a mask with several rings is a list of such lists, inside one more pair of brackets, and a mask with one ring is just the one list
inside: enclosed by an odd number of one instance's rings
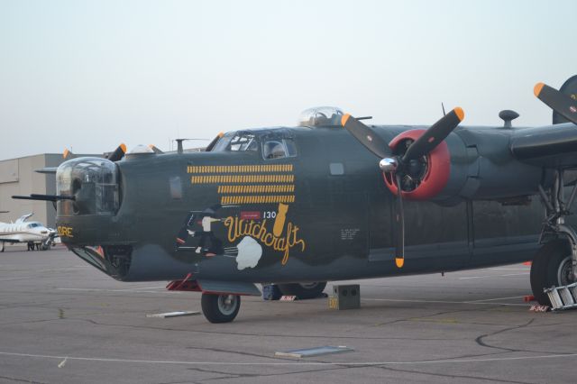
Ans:
{"label": "dark green bomber fuselage painted with Witchcraft and yellow bomb rows", "polygon": [[[382,134],[390,141],[407,129],[388,127]],[[539,246],[543,208],[536,198],[519,206],[406,201],[406,261],[398,269],[394,196],[369,151],[337,128],[248,132],[257,141],[289,137],[296,156],[264,159],[261,145],[128,155],[116,163],[118,209],[104,215],[59,209],[62,241],[127,281],[188,274],[249,282],[396,276],[527,261]],[[203,228],[207,209],[210,231]],[[175,241],[183,228],[186,238]],[[248,255],[242,262],[241,253]]]}

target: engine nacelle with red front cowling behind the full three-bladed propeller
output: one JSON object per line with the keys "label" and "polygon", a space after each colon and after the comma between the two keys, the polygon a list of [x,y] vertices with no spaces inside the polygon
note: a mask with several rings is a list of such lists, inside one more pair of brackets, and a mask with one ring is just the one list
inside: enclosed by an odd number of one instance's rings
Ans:
{"label": "engine nacelle with red front cowling behind the full three-bladed propeller", "polygon": [[[422,129],[399,133],[389,147],[395,155],[402,155],[410,142],[423,133]],[[552,179],[550,172],[513,156],[510,151],[513,133],[514,130],[499,128],[455,130],[435,150],[413,160],[414,169],[402,180],[403,197],[450,206],[466,199],[507,201],[536,195],[539,184],[546,186]],[[393,175],[387,173],[384,178],[389,190],[397,195]]]}

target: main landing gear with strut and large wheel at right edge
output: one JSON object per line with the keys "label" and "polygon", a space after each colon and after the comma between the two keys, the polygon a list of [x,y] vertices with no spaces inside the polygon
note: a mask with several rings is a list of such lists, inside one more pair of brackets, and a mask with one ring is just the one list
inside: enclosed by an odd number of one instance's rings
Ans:
{"label": "main landing gear with strut and large wheel at right edge", "polygon": [[545,245],[537,251],[531,265],[531,289],[542,306],[551,306],[545,288],[563,287],[577,281],[577,233],[565,224],[565,216],[572,215],[569,208],[577,193],[577,184],[569,199],[563,197],[563,170],[555,172],[554,185],[549,193],[539,186],[546,208],[540,242]]}

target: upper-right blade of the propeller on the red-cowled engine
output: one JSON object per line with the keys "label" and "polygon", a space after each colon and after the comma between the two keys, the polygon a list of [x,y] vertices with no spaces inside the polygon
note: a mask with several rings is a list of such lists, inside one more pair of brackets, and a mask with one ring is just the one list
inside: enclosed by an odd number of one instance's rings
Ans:
{"label": "upper-right blade of the propeller on the red-cowled engine", "polygon": [[426,153],[433,151],[437,145],[446,139],[449,133],[453,132],[453,129],[463,121],[464,117],[465,113],[463,112],[463,108],[459,106],[448,114],[445,114],[408,147],[401,162],[406,163],[408,160],[418,159]]}

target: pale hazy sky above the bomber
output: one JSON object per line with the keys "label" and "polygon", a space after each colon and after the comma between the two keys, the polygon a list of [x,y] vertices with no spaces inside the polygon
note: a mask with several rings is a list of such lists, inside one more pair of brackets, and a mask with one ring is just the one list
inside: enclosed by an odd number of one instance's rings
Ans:
{"label": "pale hazy sky above the bomber", "polygon": [[[545,125],[533,96],[577,73],[577,1],[0,0],[0,159],[294,125]],[[188,144],[193,146],[194,144]]]}

